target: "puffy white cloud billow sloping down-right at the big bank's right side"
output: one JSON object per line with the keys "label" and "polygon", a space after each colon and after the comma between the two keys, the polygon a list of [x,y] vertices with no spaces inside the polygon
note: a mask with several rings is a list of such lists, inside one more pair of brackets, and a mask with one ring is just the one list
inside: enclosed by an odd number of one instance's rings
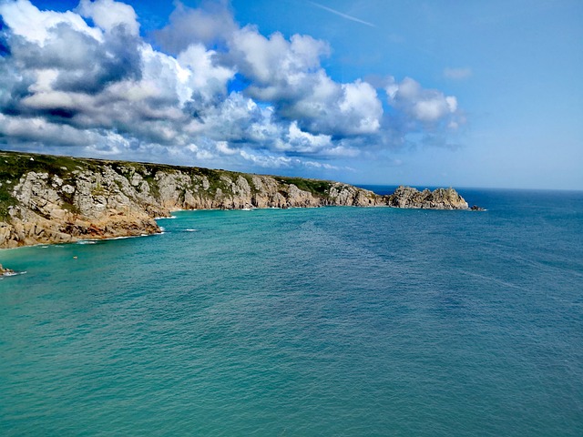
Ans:
{"label": "puffy white cloud billow sloping down-right at the big bank's right side", "polygon": [[251,80],[246,95],[269,101],[281,117],[297,120],[313,134],[371,134],[383,107],[370,84],[334,82],[321,66],[327,43],[312,36],[262,36],[245,26],[230,39],[230,60]]}

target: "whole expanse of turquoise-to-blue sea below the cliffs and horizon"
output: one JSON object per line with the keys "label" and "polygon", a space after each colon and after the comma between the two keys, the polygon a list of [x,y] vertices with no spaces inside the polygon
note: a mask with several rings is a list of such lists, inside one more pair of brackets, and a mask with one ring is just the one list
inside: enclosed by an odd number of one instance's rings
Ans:
{"label": "whole expanse of turquoise-to-blue sea below the cliffs and horizon", "polygon": [[583,193],[462,194],[0,251],[0,434],[583,435]]}

